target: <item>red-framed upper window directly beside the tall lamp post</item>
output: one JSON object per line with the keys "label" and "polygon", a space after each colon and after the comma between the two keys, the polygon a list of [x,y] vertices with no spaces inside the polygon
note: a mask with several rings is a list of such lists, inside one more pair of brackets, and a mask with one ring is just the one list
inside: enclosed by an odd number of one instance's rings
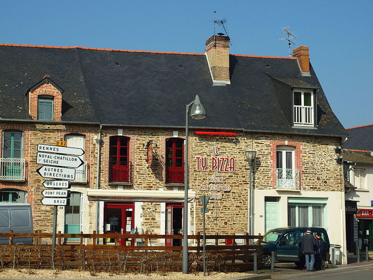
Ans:
{"label": "red-framed upper window directly beside the tall lamp post", "polygon": [[184,183],[184,139],[166,140],[166,183]]}

